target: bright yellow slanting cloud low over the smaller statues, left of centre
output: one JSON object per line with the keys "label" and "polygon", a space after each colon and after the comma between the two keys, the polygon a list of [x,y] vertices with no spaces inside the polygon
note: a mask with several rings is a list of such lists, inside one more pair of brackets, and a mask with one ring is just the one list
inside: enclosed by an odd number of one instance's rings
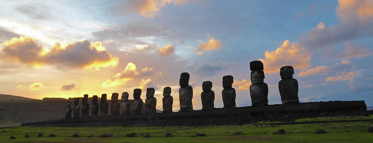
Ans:
{"label": "bright yellow slanting cloud low over the smaller statues, left of centre", "polygon": [[144,68],[141,71],[136,70],[136,65],[132,62],[127,63],[122,72],[109,78],[101,84],[102,87],[119,86],[125,84],[127,81],[134,80],[136,77],[147,77],[153,74],[153,68]]}

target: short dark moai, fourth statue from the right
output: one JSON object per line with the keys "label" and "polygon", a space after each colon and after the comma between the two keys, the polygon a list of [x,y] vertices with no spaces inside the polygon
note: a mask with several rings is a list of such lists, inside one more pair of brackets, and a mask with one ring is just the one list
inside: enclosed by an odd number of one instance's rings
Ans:
{"label": "short dark moai, fourth statue from the right", "polygon": [[204,81],[202,83],[202,93],[201,93],[201,100],[202,100],[202,109],[214,109],[214,100],[215,100],[215,93],[212,88],[211,81]]}

